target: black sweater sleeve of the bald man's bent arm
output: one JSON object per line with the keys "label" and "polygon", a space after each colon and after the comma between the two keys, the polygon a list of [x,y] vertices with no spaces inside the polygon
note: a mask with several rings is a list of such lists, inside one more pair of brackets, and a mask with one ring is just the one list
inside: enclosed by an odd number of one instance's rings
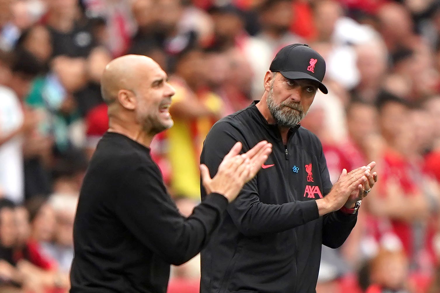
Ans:
{"label": "black sweater sleeve of the bald man's bent arm", "polygon": [[210,194],[185,218],[166,192],[159,172],[151,163],[138,164],[126,174],[115,210],[136,239],[169,264],[179,265],[207,244],[228,203],[223,195]]}

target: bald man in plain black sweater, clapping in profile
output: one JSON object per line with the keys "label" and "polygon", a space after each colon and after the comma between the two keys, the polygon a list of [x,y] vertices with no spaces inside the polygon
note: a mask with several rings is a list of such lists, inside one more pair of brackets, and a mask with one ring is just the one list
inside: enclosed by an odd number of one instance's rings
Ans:
{"label": "bald man in plain black sweater, clapping in profile", "polygon": [[101,92],[109,129],[91,159],[73,227],[71,293],[166,292],[169,265],[183,264],[209,241],[228,203],[268,158],[261,141],[239,155],[237,143],[211,179],[209,195],[190,217],[180,215],[150,157],[155,134],[172,127],[174,89],[151,58],[126,55],[104,70]]}

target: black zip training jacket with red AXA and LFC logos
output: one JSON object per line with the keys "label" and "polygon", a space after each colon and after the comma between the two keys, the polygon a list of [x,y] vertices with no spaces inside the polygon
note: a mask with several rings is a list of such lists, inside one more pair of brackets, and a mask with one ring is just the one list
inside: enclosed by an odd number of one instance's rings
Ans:
{"label": "black zip training jacket with red AXA and LFC logos", "polygon": [[297,126],[284,145],[257,102],[218,121],[203,146],[201,163],[211,176],[236,141],[246,152],[267,140],[273,151],[202,250],[201,293],[314,293],[321,245],[341,246],[357,215],[319,217],[315,199],[332,187],[319,139]]}

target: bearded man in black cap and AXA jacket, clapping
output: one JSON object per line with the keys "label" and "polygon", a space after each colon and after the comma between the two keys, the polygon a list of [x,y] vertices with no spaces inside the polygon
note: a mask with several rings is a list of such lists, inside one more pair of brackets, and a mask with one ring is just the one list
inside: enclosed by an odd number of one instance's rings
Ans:
{"label": "bearded man in black cap and AXA jacket, clapping", "polygon": [[273,151],[202,250],[202,293],[315,292],[321,245],[341,246],[356,224],[360,200],[377,181],[375,163],[342,170],[332,187],[319,139],[299,124],[316,91],[327,93],[324,73],[324,59],[307,45],[282,48],[261,100],[206,137],[201,162],[211,174],[235,141],[246,150],[264,139]]}

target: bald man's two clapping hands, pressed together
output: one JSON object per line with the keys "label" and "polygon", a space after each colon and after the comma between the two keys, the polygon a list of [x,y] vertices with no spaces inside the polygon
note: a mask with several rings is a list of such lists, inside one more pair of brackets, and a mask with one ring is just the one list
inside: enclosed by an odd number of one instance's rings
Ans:
{"label": "bald man's two clapping hands, pressed together", "polygon": [[207,194],[220,193],[228,202],[233,201],[243,185],[257,174],[261,164],[268,159],[272,145],[267,141],[260,141],[248,152],[239,155],[241,149],[241,142],[237,142],[224,157],[216,176],[212,179],[208,167],[204,164],[200,165],[202,184]]}

